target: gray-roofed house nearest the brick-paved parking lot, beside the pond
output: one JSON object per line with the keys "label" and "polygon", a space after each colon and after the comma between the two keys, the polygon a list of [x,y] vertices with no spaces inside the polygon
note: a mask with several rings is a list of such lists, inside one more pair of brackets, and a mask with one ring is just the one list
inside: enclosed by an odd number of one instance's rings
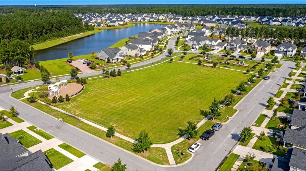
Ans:
{"label": "gray-roofed house nearest the brick-paved parking lot, beside the pond", "polygon": [[125,53],[119,48],[103,49],[97,53],[97,58],[104,61],[107,61],[107,58],[110,58],[110,62],[120,62],[121,59],[125,59]]}

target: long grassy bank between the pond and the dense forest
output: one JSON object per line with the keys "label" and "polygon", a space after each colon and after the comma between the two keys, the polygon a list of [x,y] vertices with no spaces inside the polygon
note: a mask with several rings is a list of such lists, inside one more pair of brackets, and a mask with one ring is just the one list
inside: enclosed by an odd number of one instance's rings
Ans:
{"label": "long grassy bank between the pond and the dense forest", "polygon": [[55,40],[46,41],[46,42],[43,42],[43,43],[40,43],[40,44],[32,45],[32,47],[35,50],[46,49],[46,48],[50,48],[50,47],[53,47],[53,46],[56,46],[56,45],[60,45],[60,44],[65,43],[65,42],[72,41],[72,40],[75,40],[75,39],[78,39],[78,38],[81,38],[81,37],[85,37],[85,36],[89,36],[91,34],[95,34],[95,33],[99,33],[99,32],[101,32],[101,30],[96,30],[95,29],[95,30],[92,30],[92,31],[87,31],[87,32],[84,32],[84,33],[79,33],[79,34],[75,34],[75,35],[68,36],[68,37],[63,37],[63,38],[58,38],[58,39],[55,39]]}

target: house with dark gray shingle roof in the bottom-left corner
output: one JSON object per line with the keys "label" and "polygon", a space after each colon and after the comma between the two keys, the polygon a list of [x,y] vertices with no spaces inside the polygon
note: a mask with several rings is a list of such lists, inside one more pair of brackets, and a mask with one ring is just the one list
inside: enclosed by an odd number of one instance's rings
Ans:
{"label": "house with dark gray shingle roof in the bottom-left corner", "polygon": [[0,134],[0,154],[0,170],[53,170],[43,151],[32,153],[8,133]]}

